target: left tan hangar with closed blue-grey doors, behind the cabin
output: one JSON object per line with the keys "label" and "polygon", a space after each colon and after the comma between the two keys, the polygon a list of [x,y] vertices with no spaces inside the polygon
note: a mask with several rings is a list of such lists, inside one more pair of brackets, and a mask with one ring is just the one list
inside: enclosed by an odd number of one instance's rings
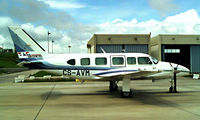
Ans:
{"label": "left tan hangar with closed blue-grey doors, behind the cabin", "polygon": [[94,34],[88,41],[88,53],[149,53],[151,34]]}

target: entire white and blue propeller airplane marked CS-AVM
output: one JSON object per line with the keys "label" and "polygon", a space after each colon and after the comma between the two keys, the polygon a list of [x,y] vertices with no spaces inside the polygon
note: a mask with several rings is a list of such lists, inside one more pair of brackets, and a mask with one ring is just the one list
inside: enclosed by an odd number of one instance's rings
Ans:
{"label": "entire white and blue propeller airplane marked CS-AVM", "polygon": [[[19,64],[81,80],[110,81],[110,91],[118,90],[117,83],[122,80],[123,97],[132,95],[130,80],[166,79],[172,73],[189,72],[184,66],[157,61],[143,53],[48,54],[25,30],[8,29]],[[175,92],[176,83],[172,82],[169,90]]]}

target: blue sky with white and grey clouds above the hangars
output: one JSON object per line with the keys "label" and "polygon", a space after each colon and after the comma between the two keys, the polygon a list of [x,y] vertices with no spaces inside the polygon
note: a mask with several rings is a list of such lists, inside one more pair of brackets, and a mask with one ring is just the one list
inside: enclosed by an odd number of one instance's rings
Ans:
{"label": "blue sky with white and grey clouds above the hangars", "polygon": [[95,33],[200,34],[200,0],[0,0],[0,47],[13,48],[7,26],[24,28],[45,49],[86,53]]}

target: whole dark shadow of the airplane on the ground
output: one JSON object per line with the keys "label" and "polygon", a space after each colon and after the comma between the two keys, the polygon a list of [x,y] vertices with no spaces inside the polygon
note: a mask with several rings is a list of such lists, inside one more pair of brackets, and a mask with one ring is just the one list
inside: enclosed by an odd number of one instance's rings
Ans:
{"label": "whole dark shadow of the airplane on the ground", "polygon": [[[60,91],[49,91],[41,95],[41,99],[49,99],[49,100],[56,100],[60,97],[64,96],[102,96],[107,95],[108,98],[118,98],[121,100],[131,100],[131,101],[137,101],[141,104],[148,104],[148,105],[155,105],[155,106],[162,106],[162,107],[177,107],[178,104],[176,102],[176,99],[174,98],[174,101],[171,100],[173,97],[184,97],[189,96],[189,94],[185,93],[192,93],[192,92],[199,92],[199,91],[180,91],[178,93],[169,93],[169,92],[158,92],[158,89],[154,90],[135,90],[132,89],[133,94],[131,98],[122,98],[121,97],[121,88],[119,88],[116,92],[109,92],[109,90],[102,90],[102,91],[96,91],[94,93],[62,93]],[[47,96],[49,96],[47,98]],[[166,97],[170,97],[170,99],[166,99]],[[180,100],[180,98],[179,98]]]}

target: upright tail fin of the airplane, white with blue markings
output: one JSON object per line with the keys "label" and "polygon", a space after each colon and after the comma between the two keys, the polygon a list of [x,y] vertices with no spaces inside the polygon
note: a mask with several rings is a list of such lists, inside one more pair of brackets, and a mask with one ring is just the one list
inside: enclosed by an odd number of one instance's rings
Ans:
{"label": "upright tail fin of the airplane, white with blue markings", "polygon": [[18,57],[22,61],[28,58],[41,58],[45,50],[22,28],[8,27]]}

